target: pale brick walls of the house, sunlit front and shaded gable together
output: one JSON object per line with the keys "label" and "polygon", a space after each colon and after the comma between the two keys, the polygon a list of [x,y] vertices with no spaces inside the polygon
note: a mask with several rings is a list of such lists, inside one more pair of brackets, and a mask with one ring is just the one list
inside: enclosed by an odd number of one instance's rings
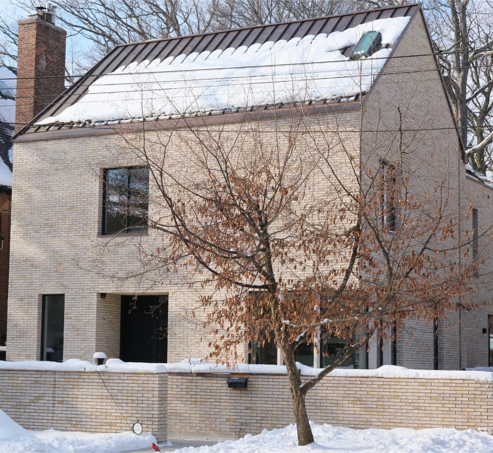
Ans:
{"label": "pale brick walls of the house, sunlit front and shaded gable together", "polygon": [[[416,53],[416,49],[420,51]],[[396,156],[400,139],[397,105],[404,118],[403,156]],[[305,137],[300,139],[300,150],[306,152],[314,144],[327,149],[331,165],[343,178],[354,174],[358,163],[357,159],[350,161],[350,157],[358,157],[360,152],[366,166],[361,169],[362,174],[371,166],[378,167],[383,157],[397,163],[403,157],[413,193],[423,194],[428,189],[433,192],[435,182],[447,176],[451,209],[457,209],[459,184],[462,184],[465,190],[460,203],[480,207],[481,215],[485,216],[480,216],[482,225],[493,223],[491,188],[466,185],[457,134],[450,130],[454,126],[452,115],[421,15],[403,35],[395,49],[395,58],[390,59],[372,87],[363,110],[354,104],[352,107],[350,110],[340,103],[318,108],[315,113],[315,107],[305,108],[299,127],[307,134],[300,135]],[[255,130],[261,131],[258,135],[266,148],[272,145],[274,149],[276,146],[287,149],[288,137],[282,131],[289,130],[295,121],[296,112],[291,113],[286,108],[277,109],[270,116],[259,114],[259,118],[228,114],[200,118],[196,122],[190,119],[186,124],[173,120],[148,122],[145,142],[139,134],[139,125],[135,129],[123,126],[113,131],[106,128],[50,131],[17,139],[7,358],[39,357],[41,295],[53,293],[65,294],[64,359],[90,359],[97,350],[106,351],[109,357],[119,356],[122,294],[167,294],[168,360],[207,356],[211,350],[210,337],[200,327],[200,319],[207,315],[200,308],[200,296],[207,291],[212,294],[212,289],[190,285],[186,272],[163,274],[156,267],[143,266],[145,251],[163,246],[163,238],[155,230],[142,235],[100,234],[104,169],[142,165],[138,154],[145,144],[158,162],[166,148],[170,171],[193,175],[194,169],[186,156],[200,149],[197,137],[213,141],[220,134],[231,137],[230,143],[241,137],[247,146],[247,135]],[[242,134],[240,127],[244,128]],[[315,173],[310,175],[316,187],[314,198],[323,199],[334,187],[327,184],[327,179],[317,179]],[[151,218],[159,218],[166,211],[160,210],[159,197],[153,196],[156,188],[152,181],[150,193],[149,214]],[[468,193],[480,194],[481,203],[468,199]],[[142,270],[150,271],[143,274]],[[492,271],[485,269],[486,275]],[[477,289],[473,297],[491,300],[491,288],[486,284]],[[101,298],[101,292],[106,293],[106,299]],[[199,317],[195,322],[185,313],[193,309],[197,309],[195,313]],[[488,365],[488,334],[482,332],[490,313],[493,312],[489,305],[472,312],[463,311],[460,325],[456,312],[448,315],[447,321],[440,325],[439,368]],[[396,363],[432,368],[432,329],[432,323],[417,320],[410,320],[406,328],[400,328]],[[389,363],[389,345],[385,354]],[[239,360],[246,360],[246,348]],[[369,363],[377,362],[369,359]]]}

